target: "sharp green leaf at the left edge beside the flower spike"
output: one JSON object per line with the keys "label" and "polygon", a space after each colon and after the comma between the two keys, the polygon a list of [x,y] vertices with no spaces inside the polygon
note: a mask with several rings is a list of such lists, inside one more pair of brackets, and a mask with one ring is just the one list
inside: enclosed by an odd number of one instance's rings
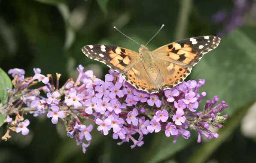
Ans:
{"label": "sharp green leaf at the left edge beside the flower spike", "polygon": [[11,79],[6,74],[6,72],[4,72],[3,69],[0,68],[0,101],[2,104],[7,103],[7,98],[8,98],[8,93],[6,91],[7,87],[12,89]]}

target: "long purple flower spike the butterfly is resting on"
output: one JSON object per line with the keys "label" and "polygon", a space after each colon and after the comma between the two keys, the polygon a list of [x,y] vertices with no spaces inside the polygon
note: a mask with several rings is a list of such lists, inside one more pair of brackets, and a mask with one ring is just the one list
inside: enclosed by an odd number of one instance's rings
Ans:
{"label": "long purple flower spike the butterfly is resting on", "polygon": [[[34,116],[47,112],[47,117],[52,118],[53,124],[59,119],[63,120],[67,127],[67,136],[75,138],[85,153],[92,139],[90,132],[95,125],[104,135],[112,134],[113,139],[120,139],[118,145],[132,141],[131,148],[134,148],[143,145],[144,135],[158,133],[161,130],[168,137],[174,136],[174,142],[179,136],[188,139],[189,130],[198,133],[198,142],[201,142],[201,136],[207,139],[211,139],[212,136],[217,138],[218,134],[208,130],[208,127],[221,128],[221,123],[226,121],[227,115],[220,113],[228,106],[225,101],[216,104],[219,102],[218,97],[208,100],[203,110],[197,111],[201,99],[206,96],[205,92],[198,92],[205,83],[204,79],[198,82],[182,82],[174,89],[148,94],[125,82],[121,74],[111,69],[110,73],[105,75],[105,81],[96,78],[91,70],[83,72],[83,69],[79,65],[76,82],[69,79],[61,88],[58,84],[58,73],[54,85],[52,75],[42,75],[38,68],[34,69],[35,75],[30,78],[24,78],[24,70],[10,70],[9,74],[14,77],[12,82],[15,92],[21,97],[15,99],[14,93],[8,91],[6,109],[13,110],[7,112],[6,122],[9,129],[21,131],[23,135],[29,132],[29,121],[24,121],[18,110],[29,111]],[[45,86],[28,89],[37,82],[43,82]],[[43,92],[46,93],[46,97],[40,95]],[[21,107],[23,103],[27,108]],[[33,112],[31,108],[34,109]],[[12,114],[18,115],[14,121],[10,119]],[[91,124],[85,126],[79,119],[91,121]],[[18,121],[21,122],[15,123]],[[134,136],[138,136],[138,139]]]}

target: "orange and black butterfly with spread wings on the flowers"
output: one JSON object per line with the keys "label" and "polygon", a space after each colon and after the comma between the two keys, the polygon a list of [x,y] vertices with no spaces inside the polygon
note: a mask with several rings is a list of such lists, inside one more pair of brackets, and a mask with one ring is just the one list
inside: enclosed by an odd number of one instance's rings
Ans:
{"label": "orange and black butterfly with spread wings on the flowers", "polygon": [[87,45],[82,52],[122,74],[138,90],[149,94],[172,89],[183,82],[205,53],[219,45],[217,36],[200,36],[139,52],[111,45]]}

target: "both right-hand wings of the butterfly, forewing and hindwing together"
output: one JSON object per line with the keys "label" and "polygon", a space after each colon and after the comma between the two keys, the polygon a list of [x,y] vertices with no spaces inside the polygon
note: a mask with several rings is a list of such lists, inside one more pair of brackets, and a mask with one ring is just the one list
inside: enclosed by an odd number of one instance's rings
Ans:
{"label": "both right-hand wings of the butterfly, forewing and hindwing together", "polygon": [[152,51],[162,75],[162,89],[183,82],[205,53],[219,45],[217,36],[201,36],[172,42]]}

